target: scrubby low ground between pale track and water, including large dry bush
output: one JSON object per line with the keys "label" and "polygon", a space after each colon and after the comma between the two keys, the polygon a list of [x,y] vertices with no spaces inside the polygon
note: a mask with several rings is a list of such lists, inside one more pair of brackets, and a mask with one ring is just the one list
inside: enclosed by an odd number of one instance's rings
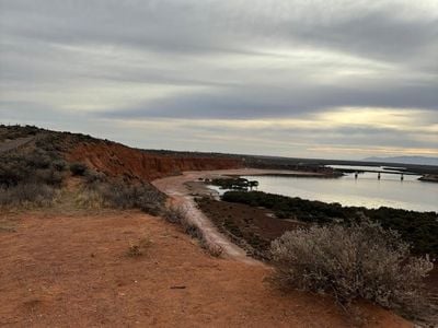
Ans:
{"label": "scrubby low ground between pale track and water, including large dry bush", "polygon": [[280,288],[369,300],[410,318],[436,312],[426,288],[438,255],[435,212],[342,207],[262,191],[199,199],[215,224],[275,267]]}

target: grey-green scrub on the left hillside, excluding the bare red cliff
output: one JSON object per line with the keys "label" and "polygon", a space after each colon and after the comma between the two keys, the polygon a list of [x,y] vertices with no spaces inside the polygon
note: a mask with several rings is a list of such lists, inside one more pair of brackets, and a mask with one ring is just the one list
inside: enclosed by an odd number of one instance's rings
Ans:
{"label": "grey-green scrub on the left hillside, excluding the bare red cliff", "polygon": [[112,177],[67,160],[74,145],[97,139],[31,126],[0,126],[0,141],[21,138],[25,144],[0,156],[0,207],[49,207],[77,178],[79,188],[69,191],[79,207],[140,209],[155,215],[162,209],[165,196],[148,181]]}

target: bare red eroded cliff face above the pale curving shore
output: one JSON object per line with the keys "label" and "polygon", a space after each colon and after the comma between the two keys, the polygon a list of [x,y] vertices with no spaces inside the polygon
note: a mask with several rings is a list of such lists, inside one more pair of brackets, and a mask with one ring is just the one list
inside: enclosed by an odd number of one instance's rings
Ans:
{"label": "bare red eroded cliff face above the pale curving shore", "polygon": [[241,161],[233,159],[158,155],[112,142],[81,143],[67,154],[67,159],[111,176],[147,181],[184,171],[243,167]]}

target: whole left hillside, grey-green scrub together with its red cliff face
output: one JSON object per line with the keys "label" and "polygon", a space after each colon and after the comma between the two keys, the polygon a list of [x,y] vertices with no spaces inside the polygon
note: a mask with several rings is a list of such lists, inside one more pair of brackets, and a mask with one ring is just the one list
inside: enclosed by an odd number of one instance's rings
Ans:
{"label": "whole left hillside, grey-green scrub together with its red cliff face", "polygon": [[[165,195],[151,180],[183,171],[239,167],[218,155],[165,155],[90,136],[0,125],[0,208],[51,206],[71,178],[80,207],[138,208],[158,214]],[[72,191],[72,190],[70,190]]]}

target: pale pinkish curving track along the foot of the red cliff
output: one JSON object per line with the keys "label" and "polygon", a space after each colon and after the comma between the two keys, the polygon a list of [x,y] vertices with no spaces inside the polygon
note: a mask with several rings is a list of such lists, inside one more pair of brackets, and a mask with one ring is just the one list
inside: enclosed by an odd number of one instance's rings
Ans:
{"label": "pale pinkish curving track along the foot of the red cliff", "polygon": [[182,175],[165,177],[152,181],[159,190],[171,197],[172,202],[182,207],[186,212],[187,220],[197,225],[204,233],[207,242],[220,245],[223,249],[223,256],[238,261],[251,265],[263,265],[261,261],[255,260],[246,255],[246,251],[229,241],[221,234],[214,223],[197,208],[195,196],[207,195],[207,188],[198,186],[196,190],[191,190],[188,183],[199,180],[199,178],[218,178],[232,175],[264,175],[264,174],[293,174],[293,175],[309,175],[307,172],[292,172],[292,171],[273,171],[273,169],[219,169],[219,171],[196,171],[184,172]]}

